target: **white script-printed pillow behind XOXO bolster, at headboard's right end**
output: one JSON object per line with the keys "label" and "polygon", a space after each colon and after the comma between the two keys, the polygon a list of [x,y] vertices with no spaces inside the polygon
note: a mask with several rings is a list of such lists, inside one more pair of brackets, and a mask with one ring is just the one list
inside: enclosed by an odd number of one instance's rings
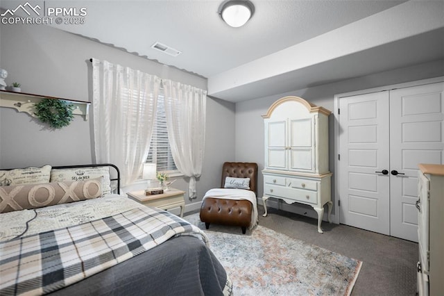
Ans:
{"label": "white script-printed pillow behind XOXO bolster, at headboard's right end", "polygon": [[56,181],[86,181],[88,179],[102,179],[103,195],[111,194],[110,168],[109,167],[77,167],[72,169],[51,170],[51,182]]}

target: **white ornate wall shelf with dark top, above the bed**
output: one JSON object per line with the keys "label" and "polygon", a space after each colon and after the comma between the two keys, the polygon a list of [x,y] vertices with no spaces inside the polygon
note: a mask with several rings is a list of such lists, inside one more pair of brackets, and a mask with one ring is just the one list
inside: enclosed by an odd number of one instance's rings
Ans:
{"label": "white ornate wall shelf with dark top, above the bed", "polygon": [[42,96],[40,94],[28,94],[26,92],[10,92],[0,90],[0,107],[14,108],[18,112],[25,112],[35,117],[34,106],[42,99],[61,99],[74,105],[73,114],[81,115],[85,121],[89,115],[89,101],[76,101],[74,99],[62,99],[58,97]]}

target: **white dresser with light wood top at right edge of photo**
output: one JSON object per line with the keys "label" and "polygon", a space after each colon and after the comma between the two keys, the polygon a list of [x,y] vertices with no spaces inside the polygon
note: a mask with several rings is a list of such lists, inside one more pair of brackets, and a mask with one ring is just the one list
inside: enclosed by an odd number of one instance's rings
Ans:
{"label": "white dresser with light wood top at right edge of photo", "polygon": [[418,171],[418,294],[444,293],[444,165]]}

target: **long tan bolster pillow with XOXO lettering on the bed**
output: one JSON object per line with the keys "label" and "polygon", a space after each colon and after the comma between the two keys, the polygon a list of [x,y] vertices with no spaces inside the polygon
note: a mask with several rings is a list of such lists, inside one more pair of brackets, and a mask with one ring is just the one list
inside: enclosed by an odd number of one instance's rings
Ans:
{"label": "long tan bolster pillow with XOXO lettering on the bed", "polygon": [[1,186],[0,213],[101,197],[102,179]]}

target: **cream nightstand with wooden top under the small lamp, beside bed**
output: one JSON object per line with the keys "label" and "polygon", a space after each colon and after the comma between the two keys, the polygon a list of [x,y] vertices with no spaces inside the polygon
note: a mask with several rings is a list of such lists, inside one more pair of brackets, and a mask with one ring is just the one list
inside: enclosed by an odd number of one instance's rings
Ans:
{"label": "cream nightstand with wooden top under the small lamp, beside bed", "polygon": [[177,208],[180,206],[180,217],[183,217],[185,210],[185,191],[169,188],[168,191],[161,195],[145,195],[145,190],[126,192],[130,199],[144,204],[145,206],[155,206],[162,208],[162,210],[169,210],[170,208]]}

